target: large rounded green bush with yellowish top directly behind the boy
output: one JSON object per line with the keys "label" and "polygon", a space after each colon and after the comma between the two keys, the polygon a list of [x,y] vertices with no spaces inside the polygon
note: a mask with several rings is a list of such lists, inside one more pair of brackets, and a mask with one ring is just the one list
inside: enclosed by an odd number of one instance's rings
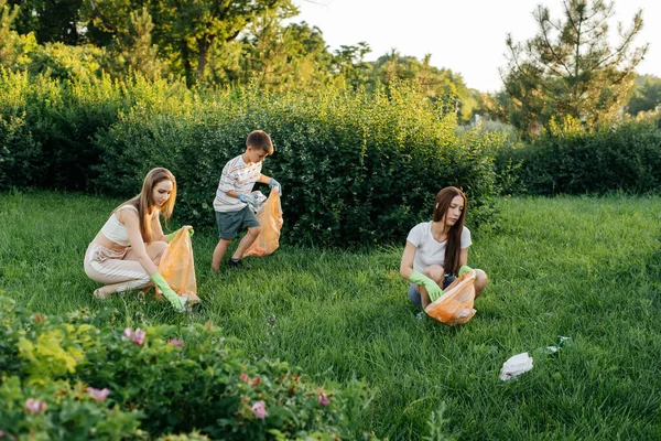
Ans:
{"label": "large rounded green bush with yellowish top directly behind the boy", "polygon": [[149,169],[167,166],[177,176],[177,215],[213,225],[223,166],[242,153],[256,128],[275,144],[263,173],[283,185],[283,233],[290,241],[400,240],[430,216],[435,193],[446,185],[467,191],[472,222],[490,218],[491,144],[502,140],[478,131],[458,137],[454,116],[441,115],[403,86],[389,97],[248,88],[192,103],[175,96],[158,108],[132,109],[96,138],[106,159],[99,185],[129,196]]}

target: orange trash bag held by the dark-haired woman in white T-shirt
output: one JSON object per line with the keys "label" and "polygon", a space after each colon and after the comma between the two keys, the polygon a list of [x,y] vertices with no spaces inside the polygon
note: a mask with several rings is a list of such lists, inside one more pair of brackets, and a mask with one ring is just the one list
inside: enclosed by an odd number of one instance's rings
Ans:
{"label": "orange trash bag held by the dark-haired woman in white T-shirt", "polygon": [[443,291],[443,295],[430,303],[424,311],[437,321],[454,326],[466,323],[475,315],[474,301],[475,270],[472,269],[457,277]]}

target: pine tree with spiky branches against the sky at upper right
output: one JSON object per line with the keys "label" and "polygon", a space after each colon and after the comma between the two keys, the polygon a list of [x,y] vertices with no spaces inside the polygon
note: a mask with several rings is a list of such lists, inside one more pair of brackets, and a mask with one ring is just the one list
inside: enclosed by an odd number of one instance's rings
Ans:
{"label": "pine tree with spiky branches against the sky at upper right", "polygon": [[537,123],[546,126],[553,116],[588,127],[608,120],[629,93],[633,69],[647,51],[647,45],[632,47],[642,29],[641,11],[629,30],[619,29],[615,46],[608,40],[613,2],[564,0],[563,14],[564,21],[552,20],[540,6],[533,13],[538,35],[524,43],[507,37],[501,115],[520,130],[535,131]]}

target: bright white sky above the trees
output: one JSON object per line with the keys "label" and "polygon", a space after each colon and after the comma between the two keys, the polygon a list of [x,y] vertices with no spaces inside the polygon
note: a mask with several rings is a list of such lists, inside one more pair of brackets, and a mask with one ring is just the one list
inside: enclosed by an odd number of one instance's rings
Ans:
{"label": "bright white sky above the trees", "polygon": [[[537,34],[532,17],[538,4],[548,7],[551,18],[561,18],[562,0],[294,0],[301,13],[292,22],[305,21],[323,32],[330,51],[340,45],[366,42],[372,52],[366,61],[395,49],[401,55],[421,60],[432,54],[431,64],[449,68],[466,85],[480,92],[501,89],[498,72],[506,67],[505,40]],[[609,22],[611,42],[617,22],[630,28],[642,9],[643,29],[633,46],[650,43],[639,74],[661,76],[661,0],[618,0]]]}

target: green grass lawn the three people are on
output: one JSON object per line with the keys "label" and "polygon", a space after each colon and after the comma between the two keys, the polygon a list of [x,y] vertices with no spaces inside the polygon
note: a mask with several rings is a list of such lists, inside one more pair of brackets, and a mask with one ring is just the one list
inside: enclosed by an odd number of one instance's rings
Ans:
{"label": "green grass lawn the three people are on", "polygon": [[[445,431],[463,440],[661,439],[659,197],[501,201],[500,229],[474,232],[469,254],[490,283],[457,327],[416,319],[398,275],[403,244],[283,245],[247,259],[249,270],[213,275],[216,239],[201,230],[203,303],[189,316],[136,295],[96,301],[83,256],[117,202],[0,195],[0,287],[51,314],[115,308],[108,320],[121,324],[210,320],[248,355],[288,361],[319,384],[365,378],[376,392],[366,426],[391,440],[425,437],[443,402]],[[543,355],[559,335],[572,343]],[[534,368],[499,380],[521,352]]]}

